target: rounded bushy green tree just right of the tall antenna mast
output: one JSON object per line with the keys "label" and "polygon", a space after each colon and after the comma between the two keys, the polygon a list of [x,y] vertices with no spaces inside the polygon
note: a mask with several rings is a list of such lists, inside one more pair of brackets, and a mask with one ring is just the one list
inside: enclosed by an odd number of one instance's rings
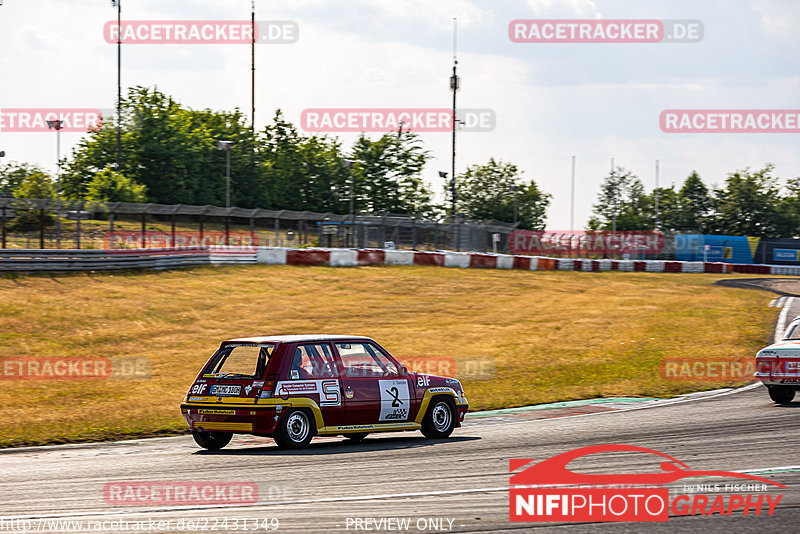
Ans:
{"label": "rounded bushy green tree just right of the tall antenna mast", "polygon": [[516,195],[519,228],[543,229],[552,195],[533,181],[524,184],[519,174],[516,165],[494,158],[484,165],[468,167],[457,179],[459,211],[472,220],[513,222]]}

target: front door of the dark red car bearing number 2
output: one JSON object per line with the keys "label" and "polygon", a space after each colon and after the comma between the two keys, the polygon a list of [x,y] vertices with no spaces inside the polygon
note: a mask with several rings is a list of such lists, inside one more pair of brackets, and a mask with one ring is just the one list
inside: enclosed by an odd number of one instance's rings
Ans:
{"label": "front door of the dark red car bearing number 2", "polygon": [[412,389],[400,365],[368,341],[333,345],[342,367],[345,424],[407,422]]}

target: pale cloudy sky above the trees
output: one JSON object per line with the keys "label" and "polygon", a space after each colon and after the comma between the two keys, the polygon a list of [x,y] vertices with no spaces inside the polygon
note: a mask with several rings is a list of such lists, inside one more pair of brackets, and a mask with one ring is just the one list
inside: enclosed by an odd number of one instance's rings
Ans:
{"label": "pale cloudy sky above the trees", "polygon": [[[122,0],[123,20],[249,20],[250,0]],[[296,23],[291,44],[256,47],[256,126],[276,109],[300,124],[309,108],[448,108],[453,18],[459,108],[494,111],[491,131],[457,136],[456,170],[489,158],[553,195],[550,230],[591,216],[614,163],[649,191],[696,170],[709,186],[727,173],[775,165],[800,176],[798,133],[665,133],[668,109],[800,109],[800,2],[793,0],[256,0],[257,20]],[[113,108],[117,50],[103,37],[109,0],[3,0],[0,110]],[[515,43],[516,19],[696,20],[689,43]],[[157,87],[193,109],[250,109],[250,47],[123,46],[122,84]],[[124,91],[124,89],[123,89]],[[338,133],[345,147],[357,134]],[[378,137],[379,134],[371,134]],[[422,133],[425,181],[443,198],[448,133]],[[62,134],[62,155],[81,134]],[[5,160],[56,168],[54,134],[0,131]]]}

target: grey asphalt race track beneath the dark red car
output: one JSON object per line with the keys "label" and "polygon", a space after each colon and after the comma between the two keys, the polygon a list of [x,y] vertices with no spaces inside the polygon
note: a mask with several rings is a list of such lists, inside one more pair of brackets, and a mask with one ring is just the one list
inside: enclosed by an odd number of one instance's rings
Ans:
{"label": "grey asphalt race track beneath the dark red car", "polygon": [[[795,314],[792,308],[785,316]],[[279,450],[272,440],[251,437],[235,438],[222,451],[208,452],[189,436],[3,450],[0,532],[9,531],[9,518],[29,518],[34,530],[43,528],[41,518],[197,521],[197,528],[183,532],[201,532],[201,526],[205,532],[231,532],[233,518],[277,518],[278,532],[398,531],[386,528],[396,527],[393,523],[364,528],[367,518],[390,517],[409,519],[410,527],[400,530],[407,532],[761,533],[792,532],[800,522],[800,403],[777,406],[763,386],[610,408],[589,403],[533,415],[522,411],[470,417],[444,441],[426,440],[418,432],[369,437],[360,444],[323,438],[307,450],[290,452]],[[786,488],[770,490],[783,495],[772,516],[764,511],[760,516],[672,516],[666,523],[647,524],[509,522],[509,459],[543,460],[608,443],[655,449],[693,469],[759,474]],[[646,455],[630,453],[580,463],[582,472],[652,472],[653,467]],[[110,481],[255,482],[259,502],[112,506],[103,496]],[[684,480],[675,489],[703,482]],[[212,528],[214,518],[229,518],[228,528],[219,523]],[[356,519],[362,520],[361,528],[356,528]],[[80,530],[62,525],[38,531]]]}

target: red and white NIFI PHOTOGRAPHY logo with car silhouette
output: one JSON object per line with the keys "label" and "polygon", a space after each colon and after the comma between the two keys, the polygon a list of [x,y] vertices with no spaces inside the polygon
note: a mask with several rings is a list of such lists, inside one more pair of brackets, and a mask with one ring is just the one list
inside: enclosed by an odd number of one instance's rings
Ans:
{"label": "red and white NIFI PHOTOGRAPHY logo with car silhouette", "polygon": [[[635,474],[576,473],[567,465],[601,453],[655,455],[660,471]],[[534,460],[512,459],[513,473]],[[745,479],[724,484],[667,484],[685,478]],[[766,478],[731,471],[698,471],[664,453],[634,445],[582,447],[538,462],[511,475],[510,521],[669,521],[673,516],[768,515],[783,495],[768,486],[785,488]],[[676,492],[677,490],[677,492]]]}

